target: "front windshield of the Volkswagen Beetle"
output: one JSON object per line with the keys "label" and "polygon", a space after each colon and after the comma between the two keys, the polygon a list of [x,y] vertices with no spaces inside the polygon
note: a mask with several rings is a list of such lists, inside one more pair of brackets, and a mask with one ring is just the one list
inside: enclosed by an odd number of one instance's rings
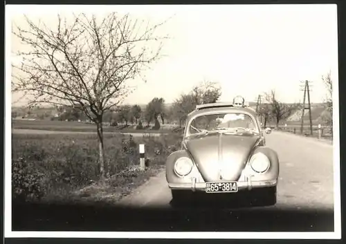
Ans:
{"label": "front windshield of the Volkswagen Beetle", "polygon": [[258,133],[255,121],[245,113],[217,113],[194,118],[189,133],[208,133],[210,131],[252,132]]}

